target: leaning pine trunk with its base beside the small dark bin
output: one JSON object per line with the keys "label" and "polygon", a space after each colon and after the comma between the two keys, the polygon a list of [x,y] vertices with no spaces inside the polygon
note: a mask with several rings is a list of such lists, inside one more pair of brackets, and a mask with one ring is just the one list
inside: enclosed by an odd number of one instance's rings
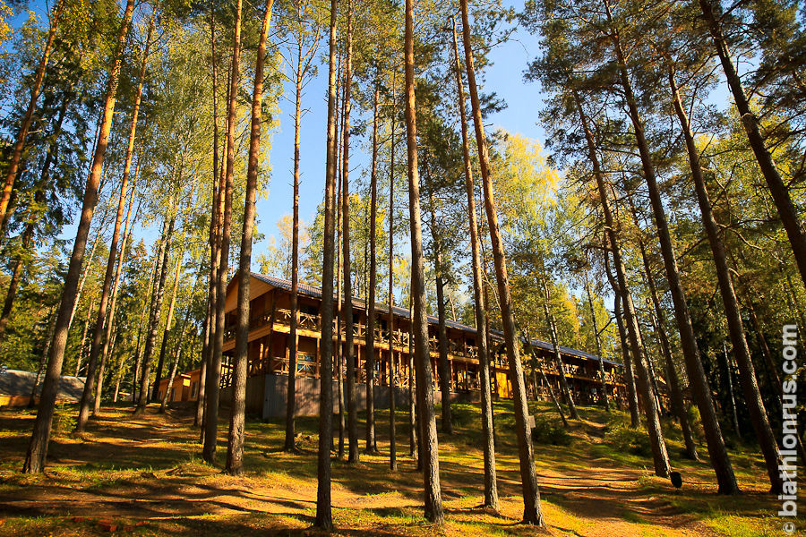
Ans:
{"label": "leaning pine trunk with its base beside the small dark bin", "polygon": [[[574,100],[577,108],[579,109],[579,118],[582,128],[585,132],[587,141],[588,158],[594,168],[594,176],[596,177],[596,188],[599,193],[599,199],[602,203],[604,212],[604,226],[607,230],[607,238],[610,242],[610,248],[613,251],[613,267],[616,271],[617,282],[612,282],[616,296],[621,294],[624,306],[624,321],[627,325],[627,335],[630,338],[631,356],[633,358],[632,365],[638,372],[639,376],[639,389],[641,396],[644,399],[644,412],[647,415],[647,430],[649,432],[649,443],[652,448],[652,458],[655,464],[655,473],[660,477],[669,477],[669,455],[666,451],[666,444],[664,441],[664,433],[661,430],[660,416],[656,404],[656,398],[653,396],[652,385],[649,378],[648,364],[644,354],[643,341],[640,336],[640,328],[638,317],[636,316],[635,305],[632,302],[632,294],[630,293],[630,286],[627,282],[626,268],[624,268],[624,261],[622,259],[622,247],[619,238],[616,234],[615,221],[613,212],[610,208],[610,201],[608,200],[607,190],[604,185],[604,175],[602,174],[599,160],[596,157],[596,145],[594,143],[593,134],[587,126],[587,116],[582,108],[582,103],[579,99],[579,94],[573,90]],[[617,286],[617,288],[615,287]]]}

